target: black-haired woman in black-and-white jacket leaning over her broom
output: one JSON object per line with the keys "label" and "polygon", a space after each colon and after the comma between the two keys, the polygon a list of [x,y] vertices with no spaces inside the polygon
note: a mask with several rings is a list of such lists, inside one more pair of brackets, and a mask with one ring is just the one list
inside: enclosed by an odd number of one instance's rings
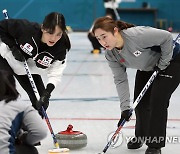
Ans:
{"label": "black-haired woman in black-and-white jacket leaning over her broom", "polygon": [[[48,108],[51,92],[60,82],[70,47],[65,18],[60,13],[48,14],[42,25],[25,19],[0,21],[0,69],[14,74],[40,114],[42,106]],[[38,101],[26,75],[24,60],[40,94]],[[46,88],[41,78],[43,72],[48,77]]]}

